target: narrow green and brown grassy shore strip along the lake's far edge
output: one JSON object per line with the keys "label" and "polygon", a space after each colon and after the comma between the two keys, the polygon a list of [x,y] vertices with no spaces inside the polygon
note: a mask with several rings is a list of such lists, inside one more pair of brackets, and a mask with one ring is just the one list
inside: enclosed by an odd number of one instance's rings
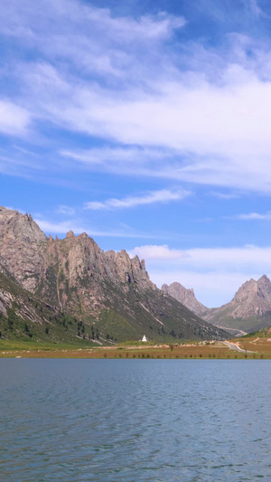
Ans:
{"label": "narrow green and brown grassy shore strip along the lake's far edge", "polygon": [[[269,341],[270,340],[270,341]],[[115,346],[56,345],[37,342],[0,340],[0,357],[22,358],[103,358],[103,359],[271,359],[271,338],[234,339],[241,353],[220,342],[203,345],[154,345],[126,342]],[[248,352],[253,353],[248,353]]]}

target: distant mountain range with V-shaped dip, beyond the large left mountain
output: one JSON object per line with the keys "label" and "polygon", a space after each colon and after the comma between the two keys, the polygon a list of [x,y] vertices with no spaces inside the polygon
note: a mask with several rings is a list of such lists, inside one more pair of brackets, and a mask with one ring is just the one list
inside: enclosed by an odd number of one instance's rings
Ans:
{"label": "distant mountain range with V-shaped dip, beyond the large left mountain", "polygon": [[212,325],[232,333],[250,333],[271,326],[271,281],[266,275],[257,281],[246,281],[229,303],[216,308],[201,305],[193,290],[183,288],[179,283],[170,287],[164,285],[162,289]]}

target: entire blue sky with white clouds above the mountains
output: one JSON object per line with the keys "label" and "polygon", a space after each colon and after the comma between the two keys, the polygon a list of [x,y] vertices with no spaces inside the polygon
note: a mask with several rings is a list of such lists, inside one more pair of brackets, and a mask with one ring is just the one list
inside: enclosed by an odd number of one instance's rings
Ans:
{"label": "entire blue sky with white clouds above the mountains", "polygon": [[2,0],[1,204],[209,307],[271,275],[271,5]]}

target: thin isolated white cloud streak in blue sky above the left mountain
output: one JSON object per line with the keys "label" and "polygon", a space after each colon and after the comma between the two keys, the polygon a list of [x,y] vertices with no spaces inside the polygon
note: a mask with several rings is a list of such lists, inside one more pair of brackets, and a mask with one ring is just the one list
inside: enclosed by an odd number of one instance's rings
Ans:
{"label": "thin isolated white cloud streak in blue sky above the left mountain", "polygon": [[142,196],[129,196],[123,199],[107,199],[107,201],[100,203],[97,201],[92,201],[85,203],[85,208],[90,210],[112,210],[112,209],[123,209],[123,208],[133,208],[137,206],[142,206],[146,204],[154,203],[167,203],[169,201],[177,201],[183,199],[184,197],[190,195],[189,191],[169,191],[167,189],[162,189],[160,191],[153,191]]}

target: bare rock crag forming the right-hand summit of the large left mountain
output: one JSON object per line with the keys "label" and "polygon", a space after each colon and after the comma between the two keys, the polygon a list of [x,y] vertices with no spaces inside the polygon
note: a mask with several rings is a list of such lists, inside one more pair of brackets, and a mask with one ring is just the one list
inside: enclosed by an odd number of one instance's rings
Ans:
{"label": "bare rock crag forming the right-hand summit of the large left mountain", "polygon": [[42,269],[36,287],[39,296],[81,315],[97,316],[107,307],[112,288],[126,294],[135,286],[139,292],[155,289],[137,256],[131,260],[125,250],[104,252],[86,233],[69,232],[63,240],[50,239]]}

